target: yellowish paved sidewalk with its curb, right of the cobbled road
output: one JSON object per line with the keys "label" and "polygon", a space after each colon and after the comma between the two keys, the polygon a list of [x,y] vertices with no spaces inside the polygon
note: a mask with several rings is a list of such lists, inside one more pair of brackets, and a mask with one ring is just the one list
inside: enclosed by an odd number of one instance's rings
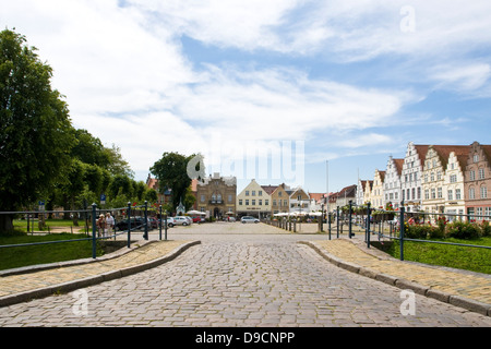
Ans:
{"label": "yellowish paved sidewalk with its curb, right of the cobbled road", "polygon": [[363,236],[300,241],[331,263],[415,293],[491,316],[491,276],[459,269],[402,262],[375,248]]}

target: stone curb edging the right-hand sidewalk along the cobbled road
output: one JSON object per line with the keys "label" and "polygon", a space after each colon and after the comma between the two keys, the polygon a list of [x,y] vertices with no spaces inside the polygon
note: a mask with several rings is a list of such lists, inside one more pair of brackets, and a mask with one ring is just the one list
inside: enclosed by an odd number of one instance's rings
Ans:
{"label": "stone curb edging the right-hand sidewalk along the cobbled road", "polygon": [[331,262],[337,267],[346,269],[348,272],[359,274],[391,286],[395,286],[400,289],[412,290],[415,293],[435,299],[438,301],[452,304],[454,306],[466,309],[470,312],[476,312],[484,316],[491,316],[491,304],[482,303],[479,301],[475,301],[468,298],[464,298],[462,296],[453,296],[446,292],[439,291],[436,289],[432,289],[431,287],[422,286],[404,278],[397,278],[392,275],[386,275],[383,273],[375,272],[370,268],[366,268],[354,263],[345,262],[315,244],[315,242],[311,241],[299,241],[298,243],[308,245],[312,248],[315,252],[318,252],[324,260]]}

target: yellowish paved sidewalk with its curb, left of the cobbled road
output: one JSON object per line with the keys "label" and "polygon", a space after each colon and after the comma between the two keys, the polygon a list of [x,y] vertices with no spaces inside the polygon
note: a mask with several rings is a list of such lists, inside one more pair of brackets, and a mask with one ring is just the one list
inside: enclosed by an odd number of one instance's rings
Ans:
{"label": "yellowish paved sidewalk with its curb, left of the cobbled road", "polygon": [[136,274],[173,260],[200,241],[139,241],[93,260],[0,272],[0,306]]}

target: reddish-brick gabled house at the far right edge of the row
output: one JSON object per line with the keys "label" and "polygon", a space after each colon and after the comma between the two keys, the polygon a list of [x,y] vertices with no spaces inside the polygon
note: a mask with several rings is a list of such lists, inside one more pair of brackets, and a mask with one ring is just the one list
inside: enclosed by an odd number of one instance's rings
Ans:
{"label": "reddish-brick gabled house at the far right edge of the row", "polygon": [[491,220],[491,145],[474,142],[465,170],[466,213],[470,219]]}

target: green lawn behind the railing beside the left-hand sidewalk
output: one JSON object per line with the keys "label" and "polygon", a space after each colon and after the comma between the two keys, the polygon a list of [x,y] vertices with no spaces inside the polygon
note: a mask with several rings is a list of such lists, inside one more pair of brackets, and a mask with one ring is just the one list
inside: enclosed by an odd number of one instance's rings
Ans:
{"label": "green lawn behind the railing beside the left-hand sidewalk", "polygon": [[[49,236],[12,236],[0,237],[0,245],[47,242],[60,240],[85,239],[85,234],[49,234]],[[103,255],[103,249],[97,244],[97,256]],[[74,241],[34,246],[0,249],[0,270],[23,266],[72,261],[92,257],[92,241]]]}

